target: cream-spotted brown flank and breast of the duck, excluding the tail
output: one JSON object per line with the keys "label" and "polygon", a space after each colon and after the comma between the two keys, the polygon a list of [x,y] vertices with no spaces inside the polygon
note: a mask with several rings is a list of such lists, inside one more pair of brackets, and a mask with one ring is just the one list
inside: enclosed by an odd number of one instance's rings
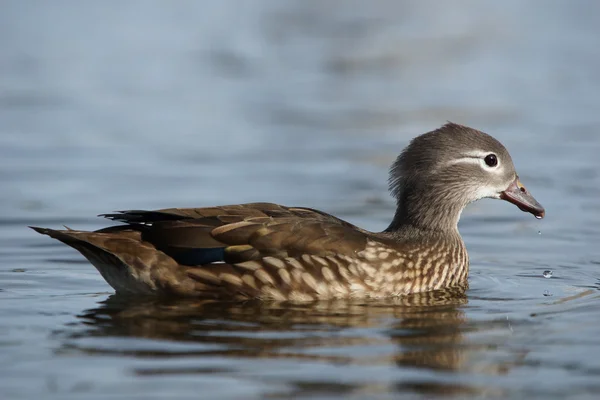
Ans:
{"label": "cream-spotted brown flank and breast of the duck, excluding the tail", "polygon": [[369,240],[355,257],[264,257],[232,267],[235,275],[220,272],[218,266],[193,269],[189,275],[216,286],[227,283],[234,297],[252,293],[251,297],[272,300],[381,298],[464,284],[468,257],[460,239],[405,253]]}

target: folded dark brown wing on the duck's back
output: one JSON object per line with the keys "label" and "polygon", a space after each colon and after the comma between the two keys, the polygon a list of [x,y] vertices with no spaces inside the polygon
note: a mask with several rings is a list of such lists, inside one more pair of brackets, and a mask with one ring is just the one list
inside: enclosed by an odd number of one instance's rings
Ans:
{"label": "folded dark brown wing on the duck's back", "polygon": [[209,208],[124,211],[104,215],[128,225],[99,232],[139,231],[182,265],[239,263],[272,256],[354,255],[368,233],[309,208],[250,203]]}

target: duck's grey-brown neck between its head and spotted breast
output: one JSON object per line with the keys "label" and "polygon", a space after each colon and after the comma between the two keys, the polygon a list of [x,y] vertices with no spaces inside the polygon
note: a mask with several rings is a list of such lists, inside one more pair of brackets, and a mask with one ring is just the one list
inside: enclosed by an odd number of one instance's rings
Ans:
{"label": "duck's grey-brown neck between its head and spotted breast", "polygon": [[451,193],[414,188],[397,195],[396,214],[385,232],[414,230],[430,235],[458,233],[458,220],[466,204],[457,201]]}

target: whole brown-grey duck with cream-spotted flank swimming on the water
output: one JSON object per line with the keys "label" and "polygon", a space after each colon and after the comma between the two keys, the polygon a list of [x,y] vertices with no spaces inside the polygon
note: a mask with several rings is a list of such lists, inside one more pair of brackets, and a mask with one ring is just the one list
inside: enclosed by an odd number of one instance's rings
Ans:
{"label": "whole brown-grey duck with cream-spotted flank swimming on the water", "polygon": [[214,300],[392,298],[468,285],[458,231],[483,198],[543,218],[506,148],[448,122],[415,137],[390,168],[396,210],[382,232],[273,203],[128,210],[96,231],[31,227],[78,250],[117,294]]}

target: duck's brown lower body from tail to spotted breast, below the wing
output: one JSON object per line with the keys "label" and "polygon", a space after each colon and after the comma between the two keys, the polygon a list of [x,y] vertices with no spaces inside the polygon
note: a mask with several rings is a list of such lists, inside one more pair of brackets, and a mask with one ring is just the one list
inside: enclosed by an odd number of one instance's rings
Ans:
{"label": "duck's brown lower body from tail to spotted breast, below the wing", "polygon": [[[117,257],[103,246],[123,247],[129,239],[106,239],[104,234],[60,233],[57,238],[84,236],[88,242],[70,243],[121,293],[195,293],[213,298],[260,298],[310,301],[340,298],[382,298],[456,286],[466,281],[468,257],[459,236],[403,251],[376,240],[347,254],[266,256],[240,263],[182,267],[153,247]],[[92,241],[98,242],[89,246]],[[124,243],[119,243],[124,242]],[[115,244],[116,243],[116,244]]]}

